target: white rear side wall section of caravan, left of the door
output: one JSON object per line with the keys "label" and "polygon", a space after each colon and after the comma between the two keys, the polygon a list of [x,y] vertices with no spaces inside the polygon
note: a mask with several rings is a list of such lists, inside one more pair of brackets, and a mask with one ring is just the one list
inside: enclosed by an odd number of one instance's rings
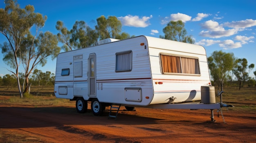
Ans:
{"label": "white rear side wall section of caravan, left of the door", "polygon": [[[57,98],[86,97],[87,58],[82,50],[60,53],[57,57],[54,91]],[[63,94],[67,88],[67,93]],[[88,96],[87,96],[88,99]]]}

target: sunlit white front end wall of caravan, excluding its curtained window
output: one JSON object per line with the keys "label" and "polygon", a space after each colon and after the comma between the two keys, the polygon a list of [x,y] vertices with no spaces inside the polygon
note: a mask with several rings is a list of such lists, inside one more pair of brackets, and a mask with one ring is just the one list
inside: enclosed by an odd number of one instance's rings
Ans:
{"label": "sunlit white front end wall of caravan, excluding its curtained window", "polygon": [[[211,82],[204,47],[153,37],[147,39],[154,83],[150,104],[200,100],[201,86],[209,86]],[[161,55],[198,60],[200,74],[163,73]],[[155,84],[158,82],[161,84]]]}

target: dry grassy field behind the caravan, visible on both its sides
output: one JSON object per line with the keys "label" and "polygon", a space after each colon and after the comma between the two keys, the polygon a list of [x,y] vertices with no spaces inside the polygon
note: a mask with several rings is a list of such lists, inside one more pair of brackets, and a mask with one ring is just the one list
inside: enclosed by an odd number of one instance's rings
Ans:
{"label": "dry grassy field behind the caravan, visible on both its sides", "polygon": [[[9,98],[1,98],[1,95]],[[74,106],[74,102],[69,101],[69,99],[57,99],[54,96],[53,86],[31,87],[31,94],[25,94],[22,99],[20,99],[17,88],[0,87],[0,99],[0,103],[34,106]],[[220,98],[216,96],[216,102],[219,101]],[[247,87],[240,90],[238,87],[224,88],[222,102],[235,106],[235,108],[229,108],[229,110],[256,111],[256,88]]]}

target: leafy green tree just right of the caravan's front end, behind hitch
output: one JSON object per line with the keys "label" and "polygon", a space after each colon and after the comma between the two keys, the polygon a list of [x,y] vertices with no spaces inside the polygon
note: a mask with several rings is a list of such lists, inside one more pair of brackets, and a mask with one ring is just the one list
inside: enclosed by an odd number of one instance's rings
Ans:
{"label": "leafy green tree just right of the caravan's front end, behind hitch", "polygon": [[224,82],[236,65],[236,58],[233,53],[214,51],[207,59],[211,77],[221,87],[221,91],[223,91]]}

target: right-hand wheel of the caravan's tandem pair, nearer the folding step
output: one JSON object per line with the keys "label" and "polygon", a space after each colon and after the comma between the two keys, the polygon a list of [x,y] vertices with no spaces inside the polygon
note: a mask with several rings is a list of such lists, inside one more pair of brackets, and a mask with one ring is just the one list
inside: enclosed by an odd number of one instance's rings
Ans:
{"label": "right-hand wheel of the caravan's tandem pair, nearer the folding step", "polygon": [[101,116],[106,109],[103,103],[100,103],[97,99],[93,99],[91,103],[92,114],[94,116]]}

